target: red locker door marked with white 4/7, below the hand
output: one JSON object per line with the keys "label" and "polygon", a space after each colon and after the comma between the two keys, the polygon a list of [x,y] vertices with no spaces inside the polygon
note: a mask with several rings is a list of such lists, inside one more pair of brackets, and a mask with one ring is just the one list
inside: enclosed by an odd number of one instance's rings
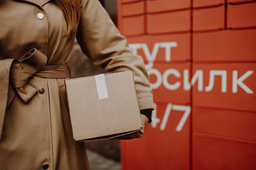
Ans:
{"label": "red locker door marked with white 4/7, below the hand", "polygon": [[159,123],[148,124],[143,138],[121,141],[123,170],[189,169],[189,117],[177,132],[184,111],[171,110],[165,129],[160,130],[166,106],[156,103]]}

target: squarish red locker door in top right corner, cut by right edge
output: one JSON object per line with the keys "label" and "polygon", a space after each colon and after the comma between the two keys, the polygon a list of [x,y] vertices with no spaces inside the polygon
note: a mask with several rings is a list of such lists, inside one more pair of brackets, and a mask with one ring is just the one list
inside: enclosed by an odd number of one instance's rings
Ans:
{"label": "squarish red locker door in top right corner, cut by right edge", "polygon": [[228,27],[255,27],[256,3],[228,5]]}

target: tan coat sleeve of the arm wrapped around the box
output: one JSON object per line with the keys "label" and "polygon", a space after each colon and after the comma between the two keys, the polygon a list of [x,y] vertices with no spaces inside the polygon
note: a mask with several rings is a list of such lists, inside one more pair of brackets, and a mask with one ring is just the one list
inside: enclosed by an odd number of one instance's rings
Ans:
{"label": "tan coat sleeve of the arm wrapped around the box", "polygon": [[77,42],[93,64],[106,71],[132,70],[140,110],[154,108],[143,59],[132,54],[127,39],[120,34],[98,0],[81,0]]}

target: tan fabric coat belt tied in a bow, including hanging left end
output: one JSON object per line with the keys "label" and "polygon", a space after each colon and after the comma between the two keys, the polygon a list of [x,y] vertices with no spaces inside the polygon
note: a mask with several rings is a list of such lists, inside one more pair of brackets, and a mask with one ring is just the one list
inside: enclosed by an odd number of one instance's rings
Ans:
{"label": "tan fabric coat belt tied in a bow, including hanging left end", "polygon": [[[37,94],[35,87],[29,84],[30,78],[33,76],[40,78],[70,77],[67,64],[45,66],[46,63],[47,56],[36,48],[29,50],[19,60],[8,59],[5,62],[0,62],[0,76],[5,74],[3,75],[3,88],[0,85],[0,139],[3,132],[4,114],[14,97],[17,95],[24,103],[28,103]],[[9,81],[12,82],[12,85]]]}

